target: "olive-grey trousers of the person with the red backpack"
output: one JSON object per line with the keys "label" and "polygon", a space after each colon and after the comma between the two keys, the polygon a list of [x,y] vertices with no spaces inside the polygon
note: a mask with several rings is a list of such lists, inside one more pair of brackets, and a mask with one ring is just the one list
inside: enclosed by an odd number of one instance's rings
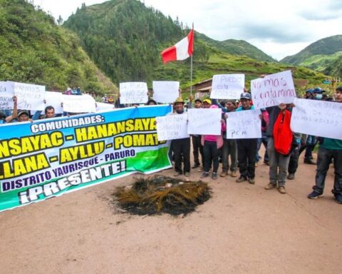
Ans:
{"label": "olive-grey trousers of the person with the red backpack", "polygon": [[269,183],[279,186],[285,186],[287,168],[289,167],[290,156],[284,156],[274,149],[274,138],[269,138],[267,145],[269,153]]}

